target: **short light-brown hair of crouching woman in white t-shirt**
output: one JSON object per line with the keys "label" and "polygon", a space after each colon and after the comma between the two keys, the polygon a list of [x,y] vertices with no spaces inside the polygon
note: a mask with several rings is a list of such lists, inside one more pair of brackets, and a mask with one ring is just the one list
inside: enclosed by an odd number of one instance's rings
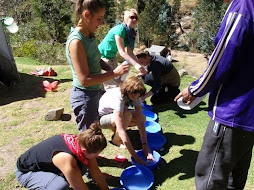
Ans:
{"label": "short light-brown hair of crouching woman in white t-shirt", "polygon": [[127,92],[131,94],[140,94],[140,96],[143,96],[146,93],[143,80],[135,76],[128,77],[123,83],[121,83],[120,90],[124,96],[127,95]]}

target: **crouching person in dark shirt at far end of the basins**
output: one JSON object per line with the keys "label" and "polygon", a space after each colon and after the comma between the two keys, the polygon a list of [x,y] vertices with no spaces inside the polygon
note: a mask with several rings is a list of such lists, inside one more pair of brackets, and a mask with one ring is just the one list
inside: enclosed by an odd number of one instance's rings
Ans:
{"label": "crouching person in dark shirt at far end of the basins", "polygon": [[165,102],[180,92],[180,76],[174,65],[165,57],[150,55],[148,51],[136,54],[140,64],[147,67],[148,74],[143,76],[144,82],[152,89],[142,96],[142,101],[151,97],[153,104]]}

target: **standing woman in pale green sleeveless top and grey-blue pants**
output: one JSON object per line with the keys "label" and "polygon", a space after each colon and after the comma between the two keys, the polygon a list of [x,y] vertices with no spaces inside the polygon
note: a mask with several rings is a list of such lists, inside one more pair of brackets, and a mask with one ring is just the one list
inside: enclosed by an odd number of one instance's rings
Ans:
{"label": "standing woman in pale green sleeveless top and grey-blue pants", "polygon": [[[101,83],[129,71],[129,66],[122,65],[113,70],[100,59],[93,33],[102,24],[104,14],[104,5],[99,0],[78,0],[75,28],[66,42],[66,56],[73,75],[71,106],[80,132],[98,120]],[[101,69],[107,72],[101,74]]]}

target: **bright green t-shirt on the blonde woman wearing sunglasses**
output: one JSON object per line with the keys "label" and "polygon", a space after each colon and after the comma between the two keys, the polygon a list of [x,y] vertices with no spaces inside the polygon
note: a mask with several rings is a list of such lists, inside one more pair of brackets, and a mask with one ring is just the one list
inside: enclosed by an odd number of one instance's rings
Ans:
{"label": "bright green t-shirt on the blonde woman wearing sunglasses", "polygon": [[124,39],[124,47],[128,45],[128,38],[126,36],[125,28],[122,24],[116,25],[111,28],[105,38],[99,45],[99,50],[101,52],[101,56],[104,58],[112,59],[116,56],[118,52],[115,35],[120,36]]}

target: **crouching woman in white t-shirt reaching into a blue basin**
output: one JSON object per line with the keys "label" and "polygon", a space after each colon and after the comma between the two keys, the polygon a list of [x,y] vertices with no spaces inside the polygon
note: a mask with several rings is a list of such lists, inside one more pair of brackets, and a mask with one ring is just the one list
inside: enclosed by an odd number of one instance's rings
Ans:
{"label": "crouching woman in white t-shirt reaching into a blue basin", "polygon": [[[114,132],[112,143],[120,148],[127,148],[135,161],[140,164],[146,164],[146,162],[136,154],[126,129],[131,126],[138,127],[144,155],[148,160],[153,161],[153,155],[147,144],[146,119],[141,107],[141,96],[145,92],[143,80],[131,76],[121,83],[120,87],[108,89],[103,94],[98,110],[100,127],[111,129]],[[134,107],[134,109],[128,109],[129,106]]]}

